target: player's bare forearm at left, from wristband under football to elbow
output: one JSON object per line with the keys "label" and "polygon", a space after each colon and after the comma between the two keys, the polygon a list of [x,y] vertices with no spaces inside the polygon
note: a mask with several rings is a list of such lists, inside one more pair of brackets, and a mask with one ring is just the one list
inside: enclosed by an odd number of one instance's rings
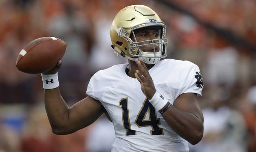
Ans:
{"label": "player's bare forearm at left, from wristband under football to elbow", "polygon": [[68,121],[69,107],[61,97],[59,87],[45,89],[45,108],[52,130],[65,127]]}

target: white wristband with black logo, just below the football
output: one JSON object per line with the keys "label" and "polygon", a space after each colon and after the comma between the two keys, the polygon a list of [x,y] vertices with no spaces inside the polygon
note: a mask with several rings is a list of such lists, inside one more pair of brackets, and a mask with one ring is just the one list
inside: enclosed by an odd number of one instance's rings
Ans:
{"label": "white wristband with black logo, just below the football", "polygon": [[43,89],[54,89],[59,87],[58,72],[56,74],[41,74]]}

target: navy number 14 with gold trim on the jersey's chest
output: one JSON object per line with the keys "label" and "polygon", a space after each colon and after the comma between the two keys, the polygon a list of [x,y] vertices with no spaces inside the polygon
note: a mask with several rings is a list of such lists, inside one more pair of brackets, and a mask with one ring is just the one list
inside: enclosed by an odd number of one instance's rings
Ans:
{"label": "navy number 14 with gold trim on the jersey's chest", "polygon": [[[122,108],[122,120],[123,126],[126,129],[126,135],[136,135],[136,131],[131,129],[130,118],[129,118],[129,109],[128,109],[128,98],[122,98],[119,101],[119,106]],[[149,119],[145,120],[146,115],[148,114]],[[154,106],[146,98],[141,110],[137,114],[137,118],[134,122],[138,127],[147,127],[151,126],[152,130],[150,131],[151,135],[163,135],[163,129],[158,127],[161,123],[156,116],[156,110]]]}

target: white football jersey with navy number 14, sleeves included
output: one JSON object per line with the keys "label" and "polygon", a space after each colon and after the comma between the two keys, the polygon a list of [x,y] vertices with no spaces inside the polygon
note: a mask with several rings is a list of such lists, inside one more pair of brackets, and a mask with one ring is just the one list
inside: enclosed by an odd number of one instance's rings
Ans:
{"label": "white football jersey with navy number 14, sleeves included", "polygon": [[[126,67],[120,64],[98,71],[86,92],[100,101],[111,117],[117,137],[112,152],[188,152],[188,142],[156,112],[139,81],[126,74]],[[156,90],[172,104],[182,93],[201,95],[200,70],[189,61],[165,59],[149,73]]]}

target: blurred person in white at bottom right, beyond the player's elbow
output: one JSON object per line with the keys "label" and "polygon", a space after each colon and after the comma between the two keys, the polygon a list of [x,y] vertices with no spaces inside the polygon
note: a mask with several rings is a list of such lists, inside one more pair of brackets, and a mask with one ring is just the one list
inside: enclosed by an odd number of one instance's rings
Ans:
{"label": "blurred person in white at bottom right, beyond the player's elbow", "polygon": [[243,117],[226,105],[229,93],[225,88],[216,88],[212,93],[210,107],[202,109],[204,137],[191,146],[191,152],[246,152]]}

